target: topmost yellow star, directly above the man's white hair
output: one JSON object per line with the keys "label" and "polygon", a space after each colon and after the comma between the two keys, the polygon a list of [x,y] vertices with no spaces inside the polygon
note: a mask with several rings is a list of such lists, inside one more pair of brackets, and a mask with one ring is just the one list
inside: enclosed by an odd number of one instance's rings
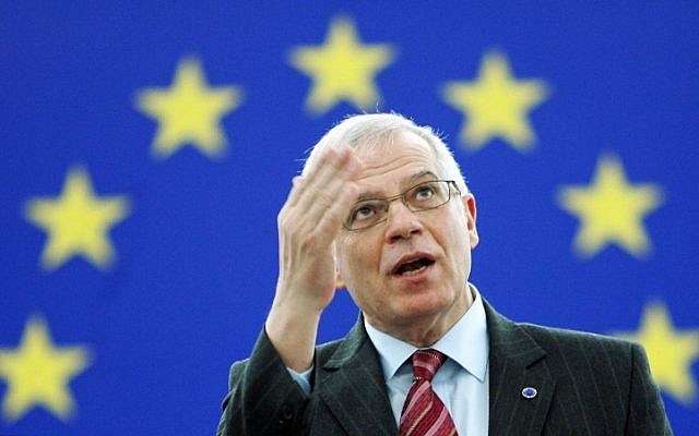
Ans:
{"label": "topmost yellow star, directly above the man's white hair", "polygon": [[323,46],[301,46],[291,52],[291,63],[313,80],[306,106],[318,114],[341,100],[362,109],[375,106],[379,93],[374,76],[393,58],[390,45],[362,45],[346,19],[331,23]]}

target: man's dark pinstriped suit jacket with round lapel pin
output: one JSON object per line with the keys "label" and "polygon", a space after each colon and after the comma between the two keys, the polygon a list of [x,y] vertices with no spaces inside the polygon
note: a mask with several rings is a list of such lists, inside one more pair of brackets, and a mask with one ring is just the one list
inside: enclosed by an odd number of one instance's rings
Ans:
{"label": "man's dark pinstriped suit jacket with round lapel pin", "polygon": [[[641,347],[516,324],[485,303],[490,435],[671,435]],[[312,391],[288,375],[264,331],[230,368],[218,435],[398,435],[376,349],[362,319],[316,350]],[[535,387],[526,399],[521,391]],[[466,435],[467,436],[467,435]]]}

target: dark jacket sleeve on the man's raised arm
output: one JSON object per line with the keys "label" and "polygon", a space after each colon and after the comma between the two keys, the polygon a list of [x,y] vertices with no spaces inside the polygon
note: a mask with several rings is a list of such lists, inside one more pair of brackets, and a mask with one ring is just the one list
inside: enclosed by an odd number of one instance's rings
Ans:
{"label": "dark jacket sleeve on the man's raised arm", "polygon": [[230,367],[217,436],[299,434],[307,397],[263,330],[250,359]]}

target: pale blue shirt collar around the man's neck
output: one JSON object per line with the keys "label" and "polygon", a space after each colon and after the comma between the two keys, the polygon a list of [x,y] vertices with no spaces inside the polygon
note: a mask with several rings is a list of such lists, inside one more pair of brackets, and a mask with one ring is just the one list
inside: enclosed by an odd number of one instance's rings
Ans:
{"label": "pale blue shirt collar around the man's neck", "polygon": [[[476,287],[469,283],[469,289],[474,295],[473,304],[431,348],[445,353],[479,382],[484,382],[488,364],[488,332],[485,310]],[[388,382],[417,348],[377,330],[367,323],[366,318],[364,327],[379,352],[383,375]]]}

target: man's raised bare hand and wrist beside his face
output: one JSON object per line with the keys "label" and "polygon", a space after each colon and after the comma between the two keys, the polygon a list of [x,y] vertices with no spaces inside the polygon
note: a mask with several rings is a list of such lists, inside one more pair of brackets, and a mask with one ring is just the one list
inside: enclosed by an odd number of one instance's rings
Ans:
{"label": "man's raised bare hand and wrist beside his face", "polygon": [[362,162],[347,146],[325,148],[277,217],[280,276],[266,334],[286,366],[311,365],[318,323],[335,294],[333,243],[358,195]]}

